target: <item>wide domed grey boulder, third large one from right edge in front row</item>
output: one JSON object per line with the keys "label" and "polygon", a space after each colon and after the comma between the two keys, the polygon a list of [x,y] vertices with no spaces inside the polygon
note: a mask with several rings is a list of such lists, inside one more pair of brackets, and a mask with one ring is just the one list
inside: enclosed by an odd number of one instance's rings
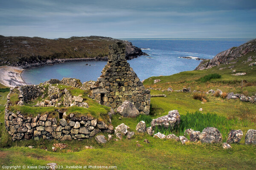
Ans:
{"label": "wide domed grey boulder, third large one from right edge in front row", "polygon": [[215,127],[204,128],[199,138],[202,143],[221,143],[222,141],[222,135]]}

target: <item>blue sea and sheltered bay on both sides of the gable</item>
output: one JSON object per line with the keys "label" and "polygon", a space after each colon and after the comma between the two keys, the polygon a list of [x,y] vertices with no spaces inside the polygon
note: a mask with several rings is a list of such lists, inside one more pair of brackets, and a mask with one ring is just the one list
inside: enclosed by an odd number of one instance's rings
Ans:
{"label": "blue sea and sheltered bay on both sides of the gable", "polygon": [[[201,61],[180,57],[212,59],[219,52],[240,46],[250,39],[123,39],[142,48],[148,56],[129,60],[140,80],[194,70]],[[88,63],[88,65],[86,65]],[[39,84],[51,78],[78,78],[96,81],[107,61],[79,61],[27,69],[22,78],[27,84]]]}

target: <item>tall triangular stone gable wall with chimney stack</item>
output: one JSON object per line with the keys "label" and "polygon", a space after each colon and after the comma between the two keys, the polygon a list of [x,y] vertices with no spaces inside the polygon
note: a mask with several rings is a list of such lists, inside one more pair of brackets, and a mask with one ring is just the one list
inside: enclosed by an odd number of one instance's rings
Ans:
{"label": "tall triangular stone gable wall with chimney stack", "polygon": [[123,101],[131,101],[140,114],[149,114],[150,90],[145,89],[136,73],[125,59],[125,44],[116,43],[110,46],[108,63],[102,75],[91,86],[90,98],[113,109]]}

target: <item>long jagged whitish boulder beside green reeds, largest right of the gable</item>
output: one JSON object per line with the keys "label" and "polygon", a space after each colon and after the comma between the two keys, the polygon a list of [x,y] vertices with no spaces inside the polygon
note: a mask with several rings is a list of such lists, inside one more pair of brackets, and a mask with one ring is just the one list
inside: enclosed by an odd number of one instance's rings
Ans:
{"label": "long jagged whitish boulder beside green reeds, largest right of the gable", "polygon": [[166,128],[174,128],[180,124],[180,114],[177,110],[169,111],[168,115],[153,119],[151,121],[151,127],[154,129],[155,126],[164,126]]}

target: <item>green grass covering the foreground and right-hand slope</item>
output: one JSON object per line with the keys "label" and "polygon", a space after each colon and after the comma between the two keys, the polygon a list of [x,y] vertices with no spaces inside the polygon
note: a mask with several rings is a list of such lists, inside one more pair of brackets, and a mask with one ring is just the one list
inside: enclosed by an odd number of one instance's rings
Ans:
{"label": "green grass covering the foreground and right-hand slope", "polygon": [[[255,54],[251,54],[254,55]],[[224,150],[221,144],[187,143],[172,140],[155,139],[148,134],[135,133],[134,137],[127,139],[125,136],[119,141],[109,141],[107,144],[97,144],[94,138],[84,141],[65,141],[67,148],[52,151],[53,144],[60,143],[56,140],[40,141],[15,141],[10,140],[9,134],[1,124],[0,141],[0,166],[2,165],[46,165],[55,162],[63,166],[116,166],[120,170],[148,170],[148,169],[237,169],[253,170],[256,167],[256,147],[255,145],[245,145],[244,137],[249,129],[256,129],[256,104],[241,102],[239,99],[215,97],[212,94],[204,94],[207,101],[203,102],[193,99],[193,92],[167,92],[171,87],[174,90],[183,87],[191,87],[192,91],[197,90],[207,92],[210,89],[221,89],[223,92],[243,93],[244,95],[255,95],[256,92],[256,65],[248,66],[248,56],[237,60],[237,63],[230,65],[215,66],[212,69],[180,72],[170,76],[151,77],[144,81],[145,87],[154,88],[151,95],[166,94],[166,97],[151,98],[151,113],[148,117],[157,118],[168,114],[170,110],[177,109],[181,118],[187,118],[187,114],[198,111],[201,117],[209,114],[216,114],[215,118],[221,118],[224,122],[222,129],[224,141],[227,138],[227,131],[241,129],[244,136],[240,144],[231,144],[232,148]],[[255,58],[254,58],[255,59]],[[253,59],[253,60],[254,60]],[[234,66],[232,69],[229,66]],[[224,68],[224,69],[221,69]],[[236,72],[232,72],[236,70]],[[235,76],[238,72],[246,72],[246,75]],[[210,79],[209,81],[199,81],[200,78],[209,74],[221,75],[221,78]],[[154,84],[155,79],[160,79]],[[243,88],[241,90],[241,82]],[[158,90],[160,89],[160,90]],[[4,122],[4,107],[0,107],[0,122]],[[189,113],[188,113],[189,112]],[[199,114],[199,115],[200,115]],[[115,115],[112,124],[115,128],[121,123],[125,123],[136,131],[137,118],[121,118]],[[211,120],[198,120],[206,121]],[[213,123],[217,126],[218,121]],[[226,128],[226,130],[225,130]],[[107,133],[102,133],[106,137]],[[175,133],[180,135],[180,132]],[[144,142],[148,139],[149,144]],[[33,149],[28,146],[34,146]],[[92,146],[93,149],[86,149],[85,146]],[[28,168],[26,168],[28,169]],[[68,169],[68,168],[67,168]],[[76,168],[75,168],[76,169]],[[87,169],[93,169],[88,168]],[[99,168],[105,169],[105,168]]]}

